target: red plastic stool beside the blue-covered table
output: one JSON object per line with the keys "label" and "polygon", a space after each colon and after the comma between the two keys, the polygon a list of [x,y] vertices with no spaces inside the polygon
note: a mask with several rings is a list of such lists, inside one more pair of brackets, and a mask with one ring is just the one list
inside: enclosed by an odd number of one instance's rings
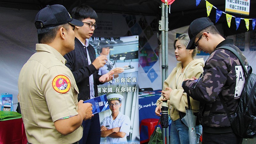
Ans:
{"label": "red plastic stool beside the blue-covered table", "polygon": [[140,130],[141,130],[141,126],[147,126],[148,127],[148,139],[147,140],[141,140],[140,143],[145,143],[149,141],[150,136],[152,135],[152,133],[155,130],[155,126],[158,123],[159,119],[156,118],[147,118],[147,119],[143,119],[141,120],[140,123]]}

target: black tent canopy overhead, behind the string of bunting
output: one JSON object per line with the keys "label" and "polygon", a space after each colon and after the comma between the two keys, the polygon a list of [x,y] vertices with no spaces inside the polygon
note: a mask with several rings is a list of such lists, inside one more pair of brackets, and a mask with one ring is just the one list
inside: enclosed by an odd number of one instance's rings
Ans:
{"label": "black tent canopy overhead, behind the string of bunting", "polygon": [[[225,0],[208,0],[219,10],[225,12]],[[157,15],[161,19],[161,0],[0,0],[0,7],[9,7],[16,9],[40,10],[45,5],[62,4],[69,12],[79,5],[87,4],[96,12],[103,13],[122,13],[122,14],[137,14],[137,15]],[[239,15],[229,13],[240,18],[256,18],[256,1],[250,1],[250,15]],[[200,17],[206,17],[205,1],[201,0],[196,6],[196,0],[176,0],[170,6],[168,14],[169,30],[180,28],[189,25],[193,20]],[[209,18],[215,23],[216,10],[212,8]],[[222,14],[220,20],[216,23],[222,24],[224,36],[229,36],[237,33],[246,32],[244,20],[241,20],[238,30],[236,30],[235,19],[232,18],[231,27],[228,28],[226,15]],[[249,30],[252,30],[250,22]]]}

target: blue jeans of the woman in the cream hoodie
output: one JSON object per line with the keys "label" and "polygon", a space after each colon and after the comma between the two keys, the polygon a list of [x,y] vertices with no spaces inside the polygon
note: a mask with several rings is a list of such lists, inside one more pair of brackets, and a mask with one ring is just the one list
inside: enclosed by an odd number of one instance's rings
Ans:
{"label": "blue jeans of the woman in the cream hoodie", "polygon": [[[196,125],[196,138],[197,143],[202,135],[202,125]],[[172,121],[170,130],[170,141],[171,144],[188,144],[188,127],[181,123],[180,118],[176,121]]]}

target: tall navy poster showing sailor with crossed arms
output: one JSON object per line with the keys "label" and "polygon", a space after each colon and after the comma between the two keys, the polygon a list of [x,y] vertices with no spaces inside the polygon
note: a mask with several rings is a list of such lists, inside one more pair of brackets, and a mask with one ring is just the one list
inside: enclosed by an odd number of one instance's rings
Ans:
{"label": "tall navy poster showing sailor with crossed arms", "polygon": [[99,95],[106,94],[109,110],[100,112],[101,144],[140,143],[138,104],[139,36],[92,37],[96,57],[106,55],[99,69],[104,75],[114,71],[112,81],[98,85]]}

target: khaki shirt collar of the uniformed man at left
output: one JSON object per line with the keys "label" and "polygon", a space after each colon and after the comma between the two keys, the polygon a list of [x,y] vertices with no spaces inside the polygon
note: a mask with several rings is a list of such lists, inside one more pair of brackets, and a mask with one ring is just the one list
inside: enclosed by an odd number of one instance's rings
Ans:
{"label": "khaki shirt collar of the uniformed man at left", "polygon": [[64,65],[66,64],[67,60],[58,52],[56,49],[51,47],[47,44],[36,44],[36,51],[44,51],[52,53],[58,60],[60,60]]}

